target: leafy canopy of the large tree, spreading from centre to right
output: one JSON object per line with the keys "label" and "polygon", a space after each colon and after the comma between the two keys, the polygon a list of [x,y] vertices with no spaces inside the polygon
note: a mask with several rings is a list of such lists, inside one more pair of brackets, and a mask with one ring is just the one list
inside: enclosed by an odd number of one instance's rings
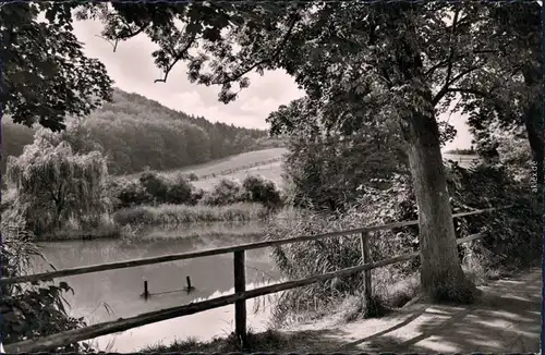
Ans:
{"label": "leafy canopy of the large tree, spreading from centre to right", "polygon": [[[519,34],[506,35],[508,29],[498,26],[498,13],[517,7],[113,3],[88,5],[80,17],[102,21],[102,36],[116,46],[146,34],[159,46],[152,53],[164,71],[158,81],[166,81],[177,63],[185,62],[190,81],[219,85],[223,102],[250,85],[247,73],[284,69],[305,89],[324,123],[348,133],[365,119],[403,118],[413,109],[446,111],[455,94],[464,93],[472,83],[501,78],[512,70],[511,44]],[[535,3],[524,7],[531,13],[541,10]],[[409,70],[414,63],[422,64],[421,72]],[[493,64],[498,70],[491,71]]]}

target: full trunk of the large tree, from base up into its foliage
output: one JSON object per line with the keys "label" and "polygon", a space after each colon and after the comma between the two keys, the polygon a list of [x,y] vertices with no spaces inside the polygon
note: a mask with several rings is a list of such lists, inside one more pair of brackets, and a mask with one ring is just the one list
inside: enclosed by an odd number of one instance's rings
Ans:
{"label": "full trunk of the large tree, from base up into its foliage", "polygon": [[[414,24],[409,24],[408,30],[413,38],[417,38]],[[421,286],[435,302],[471,303],[476,289],[465,278],[458,256],[439,125],[435,119],[434,96],[423,73],[422,57],[420,49],[410,40],[402,40],[396,53],[404,84],[411,84],[414,95],[427,103],[411,108],[408,125],[403,130],[419,207]]]}

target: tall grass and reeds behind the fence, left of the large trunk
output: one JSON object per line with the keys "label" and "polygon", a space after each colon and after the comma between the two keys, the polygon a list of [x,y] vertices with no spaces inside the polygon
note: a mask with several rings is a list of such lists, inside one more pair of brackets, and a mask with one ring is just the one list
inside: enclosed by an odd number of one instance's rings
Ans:
{"label": "tall grass and reeds behind the fence, left of the large trunk", "polygon": [[[319,234],[330,231],[354,229],[363,225],[385,224],[401,220],[412,220],[415,210],[411,205],[400,205],[400,200],[410,198],[409,185],[401,185],[396,191],[370,191],[359,200],[359,204],[343,213],[326,213],[319,211],[296,211],[298,220],[279,219],[267,231],[271,240],[290,237],[299,234]],[[370,238],[371,256],[374,261],[415,250],[413,240],[416,237],[414,228],[393,231],[377,231]],[[276,266],[288,279],[303,279],[314,274],[332,272],[362,264],[359,235],[348,235],[293,243],[275,248],[272,258]],[[279,326],[290,319],[290,316],[304,315],[322,317],[319,309],[330,313],[335,307],[352,298],[352,313],[363,317],[380,316],[388,308],[402,306],[417,292],[417,285],[397,285],[396,292],[390,291],[399,280],[414,274],[416,261],[405,261],[372,270],[373,304],[366,305],[363,299],[364,279],[362,273],[338,278],[313,285],[293,289],[284,292],[274,311],[274,321]],[[344,305],[346,306],[346,305]],[[318,313],[316,314],[316,310]],[[337,311],[340,313],[340,311]],[[351,318],[347,316],[346,318]],[[299,319],[301,320],[301,319]]]}

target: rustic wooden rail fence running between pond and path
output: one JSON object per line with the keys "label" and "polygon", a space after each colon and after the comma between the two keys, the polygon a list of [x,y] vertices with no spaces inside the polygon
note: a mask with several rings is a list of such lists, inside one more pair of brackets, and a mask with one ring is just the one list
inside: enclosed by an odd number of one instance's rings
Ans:
{"label": "rustic wooden rail fence running between pond and path", "polygon": [[[453,218],[460,218],[465,216],[492,212],[499,209],[506,209],[508,207],[501,208],[487,208],[481,209],[471,212],[461,212],[452,215]],[[5,350],[9,353],[21,353],[21,352],[40,352],[40,351],[50,351],[58,346],[68,345],[77,341],[84,341],[93,338],[97,338],[100,335],[111,334],[124,330],[129,330],[132,328],[187,316],[196,313],[201,313],[204,310],[223,307],[229,304],[234,304],[234,326],[235,326],[235,335],[242,341],[245,342],[246,339],[246,304],[245,299],[255,298],[259,296],[264,296],[267,294],[286,291],[294,287],[300,287],[304,285],[310,285],[316,282],[327,281],[339,277],[350,276],[356,272],[364,272],[364,295],[367,299],[372,297],[372,280],[371,280],[371,270],[385,267],[391,264],[397,264],[401,261],[411,260],[420,256],[419,252],[397,256],[393,258],[380,260],[380,261],[371,261],[370,256],[370,247],[368,247],[368,238],[371,236],[371,232],[382,231],[382,230],[391,230],[396,228],[409,227],[409,225],[417,225],[419,221],[404,221],[404,222],[396,222],[383,225],[368,225],[362,227],[352,230],[337,231],[324,234],[315,234],[315,235],[301,235],[291,238],[281,238],[281,240],[271,240],[264,241],[258,243],[250,243],[242,244],[235,246],[221,247],[216,249],[206,249],[201,252],[192,252],[192,253],[183,253],[183,254],[172,254],[160,257],[152,257],[152,258],[142,258],[136,260],[126,260],[126,261],[118,261],[118,262],[109,262],[102,265],[94,265],[78,268],[71,268],[64,270],[57,270],[52,272],[44,272],[31,276],[21,276],[15,278],[3,278],[0,279],[0,284],[13,284],[13,283],[22,283],[22,282],[37,282],[37,281],[47,281],[61,277],[99,272],[106,270],[116,270],[123,268],[132,268],[143,265],[153,265],[159,262],[168,262],[174,260],[184,260],[184,259],[193,259],[205,256],[213,255],[221,255],[233,253],[233,267],[234,267],[234,293],[226,296],[220,296],[203,302],[190,303],[186,305],[181,305],[177,307],[165,308],[160,310],[149,311],[145,314],[141,314],[130,318],[120,318],[113,321],[107,321],[89,327],[84,327],[81,329],[63,331],[57,334],[41,336],[37,339],[31,339],[21,341],[17,343],[7,344]],[[335,236],[347,236],[358,234],[361,242],[361,252],[362,252],[362,265],[354,266],[351,268],[322,273],[312,276],[305,279],[293,280],[281,282],[268,286],[257,287],[254,290],[246,291],[245,290],[245,250],[264,248],[264,247],[275,247],[283,244],[296,243],[296,242],[305,242],[305,241],[316,241],[326,237],[335,237]],[[458,244],[467,243],[470,241],[475,241],[482,238],[482,234],[473,234],[470,236],[465,236],[457,240]]]}

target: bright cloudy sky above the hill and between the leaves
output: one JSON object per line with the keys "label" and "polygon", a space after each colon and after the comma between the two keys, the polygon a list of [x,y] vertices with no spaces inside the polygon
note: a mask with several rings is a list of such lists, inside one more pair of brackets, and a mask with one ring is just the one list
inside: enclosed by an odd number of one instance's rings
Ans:
{"label": "bright cloudy sky above the hill and between the leaves", "polygon": [[[112,45],[99,37],[100,29],[101,24],[96,21],[75,23],[74,34],[85,44],[86,56],[97,58],[105,64],[114,86],[156,100],[173,110],[201,115],[211,122],[266,130],[268,125],[265,119],[270,112],[304,96],[304,91],[283,71],[268,71],[264,76],[256,73],[249,75],[250,87],[228,105],[218,101],[218,86],[190,83],[184,63],[173,68],[167,83],[154,83],[156,78],[162,77],[152,58],[152,52],[157,49],[156,45],[145,35],[138,35],[118,44],[113,52]],[[448,119],[448,114],[441,119]],[[465,119],[453,113],[449,123],[456,127],[458,135],[444,150],[469,148],[472,137]]]}

